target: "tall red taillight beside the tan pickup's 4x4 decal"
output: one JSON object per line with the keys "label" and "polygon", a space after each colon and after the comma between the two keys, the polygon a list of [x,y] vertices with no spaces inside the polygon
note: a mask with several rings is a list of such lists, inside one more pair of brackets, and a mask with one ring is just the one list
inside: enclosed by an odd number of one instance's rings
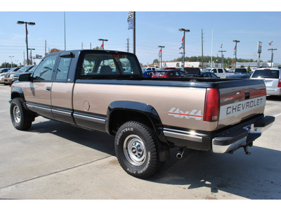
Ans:
{"label": "tall red taillight beside the tan pickup's 4x4 decal", "polygon": [[206,91],[204,121],[216,122],[220,110],[220,97],[218,89],[208,88]]}

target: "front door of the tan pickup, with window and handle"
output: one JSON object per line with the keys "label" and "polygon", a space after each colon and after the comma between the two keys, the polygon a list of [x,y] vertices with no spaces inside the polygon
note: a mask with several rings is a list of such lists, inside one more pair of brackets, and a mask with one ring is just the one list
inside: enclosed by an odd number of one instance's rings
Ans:
{"label": "front door of the tan pickup, with window and handle", "polygon": [[53,119],[51,113],[51,87],[53,70],[58,55],[46,56],[33,72],[32,82],[25,92],[26,105],[30,110]]}

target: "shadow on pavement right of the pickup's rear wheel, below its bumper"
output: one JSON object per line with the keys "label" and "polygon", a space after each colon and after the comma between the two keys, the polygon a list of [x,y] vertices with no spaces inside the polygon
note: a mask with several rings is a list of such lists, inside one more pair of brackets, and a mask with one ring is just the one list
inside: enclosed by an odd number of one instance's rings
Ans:
{"label": "shadow on pavement right of the pickup's rear wheel, below its bumper", "polygon": [[233,155],[186,150],[177,160],[173,150],[173,158],[150,181],[186,191],[209,188],[213,196],[223,191],[250,199],[281,199],[281,152],[257,146],[249,151],[251,155],[242,148]]}

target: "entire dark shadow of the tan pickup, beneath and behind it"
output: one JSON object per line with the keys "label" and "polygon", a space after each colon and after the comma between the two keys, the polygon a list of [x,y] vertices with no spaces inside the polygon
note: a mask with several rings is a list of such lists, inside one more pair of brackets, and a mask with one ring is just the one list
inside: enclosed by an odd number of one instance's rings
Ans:
{"label": "entire dark shadow of the tan pickup, beneath and behind it", "polygon": [[[29,132],[52,133],[115,156],[114,137],[103,132],[53,120],[34,123]],[[185,191],[208,188],[213,194],[210,199],[216,199],[218,191],[250,199],[281,199],[280,151],[258,146],[249,148],[251,155],[245,155],[242,148],[233,155],[185,150],[181,160],[176,158],[177,151],[171,149],[171,158],[148,182],[176,185]]]}

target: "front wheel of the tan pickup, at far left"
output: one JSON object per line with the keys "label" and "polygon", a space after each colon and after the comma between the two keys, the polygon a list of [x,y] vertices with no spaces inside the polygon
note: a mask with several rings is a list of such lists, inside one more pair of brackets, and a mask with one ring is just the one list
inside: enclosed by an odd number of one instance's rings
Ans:
{"label": "front wheel of the tan pickup, at far left", "polygon": [[13,98],[11,101],[10,115],[15,129],[27,130],[31,127],[32,117],[23,106],[21,98]]}

